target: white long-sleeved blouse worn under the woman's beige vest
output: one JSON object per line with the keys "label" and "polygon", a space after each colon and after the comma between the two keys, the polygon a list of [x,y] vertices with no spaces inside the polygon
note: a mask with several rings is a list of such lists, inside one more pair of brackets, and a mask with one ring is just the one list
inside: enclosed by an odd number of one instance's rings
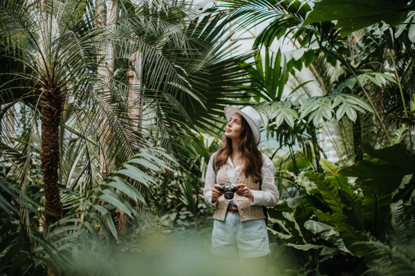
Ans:
{"label": "white long-sleeved blouse worn under the woman's beige vest", "polygon": [[[208,204],[215,206],[216,201],[212,204],[212,188],[216,184],[216,174],[213,170],[214,155],[210,157],[208,164],[208,170],[205,177],[205,189],[203,190],[203,196]],[[242,170],[242,166],[234,167],[232,160],[228,157],[228,163],[226,164],[226,175],[231,183],[237,180],[239,173]],[[268,157],[265,157],[265,162],[262,164],[261,177],[262,185],[261,190],[251,190],[254,195],[254,200],[249,199],[251,205],[260,205],[267,207],[274,207],[279,201],[279,193],[277,186],[275,186],[275,167],[273,161]]]}

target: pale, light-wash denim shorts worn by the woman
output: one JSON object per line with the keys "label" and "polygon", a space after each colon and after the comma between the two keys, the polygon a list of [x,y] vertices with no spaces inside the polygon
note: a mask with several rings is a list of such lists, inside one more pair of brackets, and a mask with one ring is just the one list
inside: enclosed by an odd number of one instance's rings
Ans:
{"label": "pale, light-wash denim shorts worn by the woman", "polygon": [[268,255],[270,246],[264,219],[241,221],[239,213],[227,212],[224,221],[215,219],[212,254],[219,257],[253,258]]}

